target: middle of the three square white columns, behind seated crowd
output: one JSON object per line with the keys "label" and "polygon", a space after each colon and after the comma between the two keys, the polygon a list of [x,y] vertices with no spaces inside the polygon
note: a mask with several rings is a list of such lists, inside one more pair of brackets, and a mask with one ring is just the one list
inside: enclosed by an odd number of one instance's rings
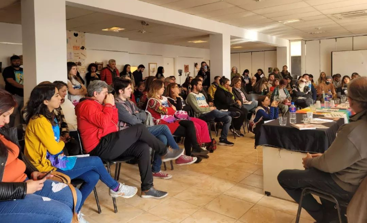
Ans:
{"label": "middle of the three square white columns, behind seated crowd", "polygon": [[210,82],[215,76],[231,75],[231,36],[226,34],[210,35]]}

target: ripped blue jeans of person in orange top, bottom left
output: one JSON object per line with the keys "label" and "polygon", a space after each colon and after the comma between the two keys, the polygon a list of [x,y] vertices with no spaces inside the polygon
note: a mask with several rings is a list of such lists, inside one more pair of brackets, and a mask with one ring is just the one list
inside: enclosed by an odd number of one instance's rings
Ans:
{"label": "ripped blue jeans of person in orange top, bottom left", "polygon": [[[7,223],[38,222],[38,223],[70,223],[72,218],[73,198],[68,186],[60,191],[52,191],[52,183],[46,180],[43,188],[24,199],[0,201],[0,221]],[[76,188],[75,188],[76,189]],[[80,209],[81,193],[76,189],[76,208]],[[44,201],[42,197],[51,198]]]}

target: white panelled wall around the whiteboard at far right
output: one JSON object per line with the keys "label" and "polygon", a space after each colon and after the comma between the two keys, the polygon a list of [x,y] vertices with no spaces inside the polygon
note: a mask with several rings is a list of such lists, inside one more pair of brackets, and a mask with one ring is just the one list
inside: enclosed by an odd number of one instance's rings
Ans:
{"label": "white panelled wall around the whiteboard at far right", "polygon": [[[314,79],[318,79],[322,71],[331,75],[331,52],[351,50],[367,50],[367,36],[306,41],[306,50],[302,52],[302,56],[306,58],[305,73],[312,74]],[[353,72],[351,70],[341,76],[350,76]]]}

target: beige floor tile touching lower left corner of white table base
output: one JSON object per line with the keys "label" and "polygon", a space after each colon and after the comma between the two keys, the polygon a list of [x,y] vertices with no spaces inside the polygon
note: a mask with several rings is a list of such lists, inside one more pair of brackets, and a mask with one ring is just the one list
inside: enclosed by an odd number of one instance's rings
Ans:
{"label": "beige floor tile touching lower left corner of white table base", "polygon": [[264,196],[264,192],[262,189],[253,186],[248,186],[242,183],[234,185],[223,194],[239,198],[242,200],[246,200],[252,203],[256,203]]}

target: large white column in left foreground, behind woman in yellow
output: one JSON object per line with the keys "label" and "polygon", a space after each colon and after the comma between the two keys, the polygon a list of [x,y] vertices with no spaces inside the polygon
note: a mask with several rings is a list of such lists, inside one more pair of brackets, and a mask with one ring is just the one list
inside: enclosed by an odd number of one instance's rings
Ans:
{"label": "large white column in left foreground, behind woman in yellow", "polygon": [[42,81],[67,81],[65,0],[22,0],[24,100]]}

